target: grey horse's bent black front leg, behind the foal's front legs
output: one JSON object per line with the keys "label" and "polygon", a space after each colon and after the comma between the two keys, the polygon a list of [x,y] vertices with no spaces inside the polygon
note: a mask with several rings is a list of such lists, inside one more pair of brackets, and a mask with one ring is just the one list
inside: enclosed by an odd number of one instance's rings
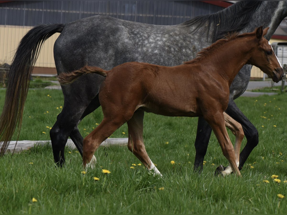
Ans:
{"label": "grey horse's bent black front leg, behind the foal's front legs", "polygon": [[247,139],[247,143],[241,151],[239,157],[238,169],[241,170],[251,151],[253,148],[255,148],[255,146],[257,146],[259,142],[258,131],[255,126],[247,119],[247,117],[239,110],[232,99],[230,99],[225,112],[241,124],[244,135]]}

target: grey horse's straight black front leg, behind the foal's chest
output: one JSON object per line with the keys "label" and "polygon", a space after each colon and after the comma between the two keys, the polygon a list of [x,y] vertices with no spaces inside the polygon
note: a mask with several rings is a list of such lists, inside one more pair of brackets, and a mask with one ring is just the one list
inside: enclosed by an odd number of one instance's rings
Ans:
{"label": "grey horse's straight black front leg, behind the foal's chest", "polygon": [[195,139],[195,161],[194,161],[194,171],[198,171],[199,173],[203,169],[203,160],[206,154],[208,142],[211,135],[211,127],[210,125],[203,119],[203,117],[198,118],[197,123],[197,133]]}

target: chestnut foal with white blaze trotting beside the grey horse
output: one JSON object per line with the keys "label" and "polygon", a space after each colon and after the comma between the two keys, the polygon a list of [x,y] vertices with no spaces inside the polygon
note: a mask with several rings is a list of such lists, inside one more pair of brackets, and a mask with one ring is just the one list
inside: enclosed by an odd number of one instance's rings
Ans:
{"label": "chestnut foal with white blaze trotting beside the grey horse", "polygon": [[[84,138],[84,167],[87,164],[94,166],[96,149],[127,122],[129,150],[148,169],[160,174],[148,157],[143,142],[146,111],[164,116],[203,116],[212,127],[232,171],[240,175],[238,164],[243,131],[240,124],[224,111],[230,84],[244,64],[259,67],[273,81],[283,78],[283,68],[270,43],[263,38],[268,29],[263,30],[261,26],[251,33],[227,36],[179,66],[128,62],[110,71],[86,66],[71,73],[61,73],[58,77],[61,84],[71,83],[88,73],[106,77],[99,91],[104,119]],[[236,135],[235,152],[225,126]]]}

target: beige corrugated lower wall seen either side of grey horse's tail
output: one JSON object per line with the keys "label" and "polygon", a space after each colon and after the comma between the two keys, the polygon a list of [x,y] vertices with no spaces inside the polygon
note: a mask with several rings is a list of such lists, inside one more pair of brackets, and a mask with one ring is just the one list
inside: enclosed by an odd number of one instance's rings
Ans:
{"label": "beige corrugated lower wall seen either side of grey horse's tail", "polygon": [[[0,25],[0,63],[11,64],[19,42],[31,28],[32,27]],[[60,33],[53,34],[53,36],[44,42],[35,64],[36,67],[55,68],[53,47],[59,35]]]}

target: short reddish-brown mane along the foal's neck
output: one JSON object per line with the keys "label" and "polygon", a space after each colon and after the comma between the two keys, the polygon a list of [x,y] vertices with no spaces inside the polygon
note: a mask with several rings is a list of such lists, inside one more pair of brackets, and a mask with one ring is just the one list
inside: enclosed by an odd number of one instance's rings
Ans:
{"label": "short reddish-brown mane along the foal's neck", "polygon": [[218,50],[222,46],[224,46],[228,42],[232,42],[236,40],[237,38],[244,37],[247,35],[253,35],[254,33],[244,33],[244,34],[239,34],[237,32],[232,33],[232,34],[227,34],[223,39],[217,40],[215,43],[213,43],[211,46],[208,46],[207,48],[203,48],[201,51],[199,51],[196,54],[196,57],[192,60],[183,62],[184,64],[193,64],[197,63],[200,60],[204,59],[206,56],[210,56],[214,51]]}

